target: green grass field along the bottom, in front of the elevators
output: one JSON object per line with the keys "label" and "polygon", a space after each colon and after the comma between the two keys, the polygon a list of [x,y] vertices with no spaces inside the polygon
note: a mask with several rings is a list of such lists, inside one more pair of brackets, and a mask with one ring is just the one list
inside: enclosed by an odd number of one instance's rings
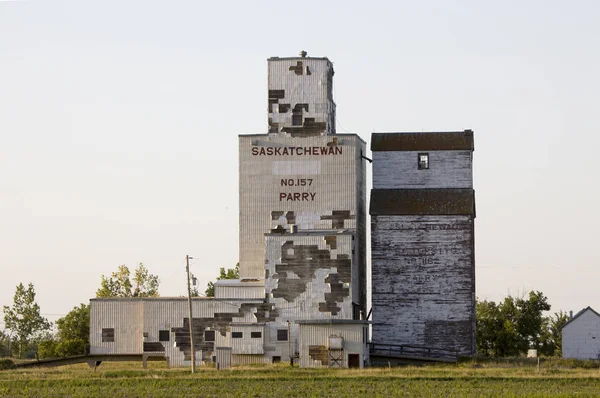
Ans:
{"label": "green grass field along the bottom, in front of the elevators", "polygon": [[[592,367],[593,366],[593,367]],[[106,363],[0,372],[8,397],[394,397],[600,396],[598,364],[588,369],[550,361],[458,365],[299,369],[284,364],[216,371],[167,369],[163,363]]]}

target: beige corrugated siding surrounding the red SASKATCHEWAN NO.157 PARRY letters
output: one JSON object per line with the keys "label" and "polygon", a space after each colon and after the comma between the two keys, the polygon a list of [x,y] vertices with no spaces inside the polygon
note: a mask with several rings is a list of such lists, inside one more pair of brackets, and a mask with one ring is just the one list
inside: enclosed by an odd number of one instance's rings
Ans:
{"label": "beige corrugated siding surrounding the red SASKATCHEWAN NO.157 PARRY letters", "polygon": [[[268,146],[329,148],[333,137],[338,139],[341,154],[329,155],[253,155],[254,148]],[[253,141],[256,144],[253,145]],[[240,277],[264,277],[264,234],[280,226],[289,228],[293,214],[295,225],[303,229],[332,229],[333,211],[349,211],[351,219],[344,228],[355,229],[357,192],[364,181],[358,181],[357,162],[360,160],[362,141],[354,135],[292,138],[286,135],[240,136]],[[256,151],[256,149],[255,149]],[[312,152],[311,152],[312,153]],[[274,161],[320,162],[319,175],[273,175]],[[294,186],[285,186],[282,180],[291,179]],[[304,180],[306,185],[302,184]],[[309,180],[311,180],[309,182]],[[299,182],[300,181],[300,182]],[[314,194],[309,200],[282,200],[282,193]],[[276,219],[276,214],[280,216]],[[290,213],[291,212],[291,213]],[[362,233],[362,231],[361,231]]]}

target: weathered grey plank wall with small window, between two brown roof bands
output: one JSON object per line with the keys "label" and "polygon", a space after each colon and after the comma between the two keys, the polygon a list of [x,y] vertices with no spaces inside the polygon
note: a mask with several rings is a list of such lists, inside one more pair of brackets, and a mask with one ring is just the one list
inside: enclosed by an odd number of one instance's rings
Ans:
{"label": "weathered grey plank wall with small window, between two brown roof bands", "polygon": [[[429,154],[429,169],[418,169],[418,154]],[[373,189],[473,188],[471,151],[373,152]]]}

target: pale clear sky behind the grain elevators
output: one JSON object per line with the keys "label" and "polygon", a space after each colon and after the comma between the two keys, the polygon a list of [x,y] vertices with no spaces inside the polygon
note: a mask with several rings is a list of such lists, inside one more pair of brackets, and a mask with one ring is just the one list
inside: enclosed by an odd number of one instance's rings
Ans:
{"label": "pale clear sky behind the grain elevators", "polygon": [[266,132],[266,59],[304,49],[334,62],[338,132],[474,130],[480,299],[600,310],[599,17],[597,1],[0,0],[0,306],[32,282],[55,321],[120,264],[163,296],[185,294],[186,254],[201,291],[233,267],[237,136]]}

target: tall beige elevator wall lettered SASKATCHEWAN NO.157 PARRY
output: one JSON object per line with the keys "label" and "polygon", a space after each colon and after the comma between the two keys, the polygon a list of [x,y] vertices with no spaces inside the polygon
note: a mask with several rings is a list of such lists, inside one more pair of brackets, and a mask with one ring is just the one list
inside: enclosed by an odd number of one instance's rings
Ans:
{"label": "tall beige elevator wall lettered SASKATCHEWAN NO.157 PARRY", "polygon": [[292,228],[365,233],[366,225],[357,225],[366,224],[362,213],[357,217],[365,189],[364,175],[357,175],[365,144],[357,135],[240,136],[239,145],[241,278],[264,278],[265,233]]}

